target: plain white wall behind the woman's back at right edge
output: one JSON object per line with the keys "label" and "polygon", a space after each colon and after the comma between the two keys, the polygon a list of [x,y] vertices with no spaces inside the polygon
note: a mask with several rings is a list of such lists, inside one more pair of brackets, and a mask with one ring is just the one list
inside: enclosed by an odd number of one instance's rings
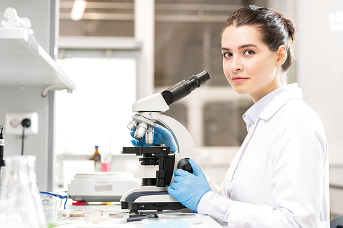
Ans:
{"label": "plain white wall behind the woman's back at right edge", "polygon": [[322,118],[330,164],[343,164],[343,31],[330,27],[331,13],[343,11],[340,0],[296,1],[297,77],[304,101]]}

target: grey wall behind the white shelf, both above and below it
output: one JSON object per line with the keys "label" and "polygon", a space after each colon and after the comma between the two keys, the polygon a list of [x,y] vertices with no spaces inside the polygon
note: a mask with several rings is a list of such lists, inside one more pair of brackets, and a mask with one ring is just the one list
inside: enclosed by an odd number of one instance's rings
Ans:
{"label": "grey wall behind the white shelf, both above and below it", "polygon": [[[0,21],[6,8],[13,7],[20,17],[27,16],[34,37],[45,51],[49,49],[49,0],[0,0]],[[4,54],[4,53],[1,53]],[[18,66],[20,67],[20,66]],[[24,86],[24,89],[21,88]],[[27,136],[24,153],[36,155],[36,174],[40,190],[47,190],[47,115],[48,99],[40,96],[42,86],[3,86],[0,78],[0,123],[6,112],[38,112],[38,134]],[[4,134],[4,156],[20,155],[21,140]]]}

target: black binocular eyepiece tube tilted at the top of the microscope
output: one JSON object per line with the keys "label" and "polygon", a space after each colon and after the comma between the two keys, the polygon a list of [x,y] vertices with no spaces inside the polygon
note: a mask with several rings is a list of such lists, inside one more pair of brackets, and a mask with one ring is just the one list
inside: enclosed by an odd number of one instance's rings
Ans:
{"label": "black binocular eyepiece tube tilted at the top of the microscope", "polygon": [[163,98],[168,105],[171,105],[175,101],[186,97],[193,90],[200,87],[200,85],[204,84],[210,78],[211,77],[209,73],[207,73],[207,71],[202,71],[202,73],[199,73],[198,75],[192,75],[191,77],[189,77],[189,79],[187,79],[187,81],[182,80],[174,86],[167,88],[167,90],[164,90],[162,92]]}

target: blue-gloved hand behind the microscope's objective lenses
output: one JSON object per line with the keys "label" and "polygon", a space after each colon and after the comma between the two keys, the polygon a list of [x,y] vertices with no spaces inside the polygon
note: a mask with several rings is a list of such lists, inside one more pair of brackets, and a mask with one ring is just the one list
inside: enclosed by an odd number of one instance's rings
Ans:
{"label": "blue-gloved hand behind the microscope's objective lenses", "polygon": [[[134,129],[131,131],[131,136],[134,138]],[[134,147],[147,147],[152,146],[145,143],[145,136],[141,140],[137,140],[137,138],[134,138],[131,140],[132,145]],[[174,140],[174,137],[171,135],[170,131],[162,127],[161,125],[156,124],[156,127],[154,127],[154,142],[153,144],[165,144],[166,147],[170,147],[170,151],[176,152],[178,149],[178,146],[176,145],[176,142]]]}

